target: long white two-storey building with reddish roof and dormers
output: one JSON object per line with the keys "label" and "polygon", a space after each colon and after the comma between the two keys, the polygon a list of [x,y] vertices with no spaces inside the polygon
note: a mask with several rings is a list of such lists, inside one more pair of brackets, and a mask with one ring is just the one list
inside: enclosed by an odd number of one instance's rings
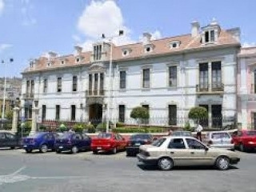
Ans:
{"label": "long white two-storey building with reddish roof and dormers", "polygon": [[22,72],[22,115],[31,118],[36,101],[39,122],[104,120],[107,105],[113,122],[129,121],[135,106],[148,108],[152,124],[183,126],[179,120],[194,106],[206,107],[208,126],[236,116],[238,28],[193,22],[191,34],[158,40],[143,35],[143,42],[125,46],[102,41],[91,52],[76,46],[76,54],[34,59]]}

